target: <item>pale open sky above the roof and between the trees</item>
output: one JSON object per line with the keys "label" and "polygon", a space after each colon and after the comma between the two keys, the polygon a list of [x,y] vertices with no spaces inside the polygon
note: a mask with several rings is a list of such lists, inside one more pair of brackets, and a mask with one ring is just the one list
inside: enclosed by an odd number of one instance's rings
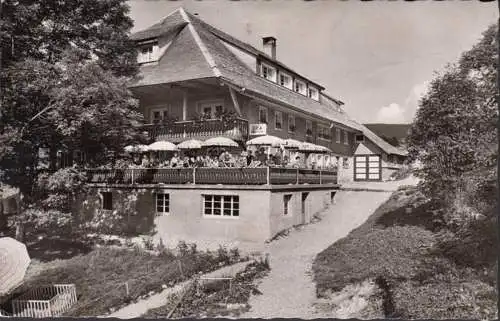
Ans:
{"label": "pale open sky above the roof and between the trees", "polygon": [[476,1],[129,0],[134,31],[179,7],[323,85],[362,123],[409,123],[427,85],[498,21]]}

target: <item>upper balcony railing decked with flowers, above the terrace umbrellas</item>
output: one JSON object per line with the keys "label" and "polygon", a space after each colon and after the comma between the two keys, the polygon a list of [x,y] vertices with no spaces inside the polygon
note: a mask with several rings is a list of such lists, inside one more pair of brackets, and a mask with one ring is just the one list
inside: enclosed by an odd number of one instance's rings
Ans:
{"label": "upper balcony railing decked with flowers, above the terrace umbrellas", "polygon": [[234,140],[246,140],[248,137],[248,121],[236,118],[231,121],[208,119],[203,121],[180,121],[171,124],[148,124],[144,129],[154,140],[181,141],[189,138],[208,139],[224,136]]}

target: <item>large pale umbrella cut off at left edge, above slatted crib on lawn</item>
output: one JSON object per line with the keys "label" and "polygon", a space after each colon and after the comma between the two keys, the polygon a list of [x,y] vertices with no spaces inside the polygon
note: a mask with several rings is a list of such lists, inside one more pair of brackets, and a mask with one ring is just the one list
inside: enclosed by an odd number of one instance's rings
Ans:
{"label": "large pale umbrella cut off at left edge, above slatted crib on lawn", "polygon": [[26,245],[11,237],[0,238],[0,295],[14,290],[30,264]]}

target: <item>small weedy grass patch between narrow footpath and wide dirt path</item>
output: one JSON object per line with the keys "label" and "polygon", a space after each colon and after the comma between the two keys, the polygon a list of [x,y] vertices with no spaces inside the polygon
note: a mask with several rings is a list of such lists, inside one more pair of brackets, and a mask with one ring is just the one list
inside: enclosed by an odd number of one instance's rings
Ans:
{"label": "small weedy grass patch between narrow footpath and wide dirt path", "polygon": [[[196,284],[187,289],[179,306],[179,295],[167,300],[167,304],[148,311],[146,318],[165,318],[173,311],[172,318],[198,317],[238,317],[248,311],[251,295],[260,294],[255,282],[269,271],[265,261],[252,262],[244,271],[231,280],[217,280]],[[175,310],[173,310],[175,308]]]}

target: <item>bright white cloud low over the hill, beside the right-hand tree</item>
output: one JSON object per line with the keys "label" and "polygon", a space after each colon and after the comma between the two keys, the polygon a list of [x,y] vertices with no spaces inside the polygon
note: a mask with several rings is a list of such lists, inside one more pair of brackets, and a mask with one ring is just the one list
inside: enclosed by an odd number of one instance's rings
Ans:
{"label": "bright white cloud low over the hill, beside the right-hand tree", "polygon": [[381,107],[376,114],[378,123],[410,123],[418,109],[418,102],[427,93],[429,81],[413,86],[403,104],[391,103]]}

